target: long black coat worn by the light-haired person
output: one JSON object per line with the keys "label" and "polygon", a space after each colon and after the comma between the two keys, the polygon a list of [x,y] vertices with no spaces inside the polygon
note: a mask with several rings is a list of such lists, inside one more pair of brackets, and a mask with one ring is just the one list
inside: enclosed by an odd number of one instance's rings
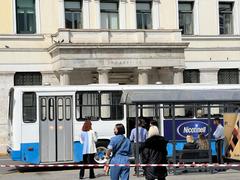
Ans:
{"label": "long black coat worn by the light-haired person", "polygon": [[[141,149],[143,164],[167,164],[167,141],[164,137],[153,135],[149,137]],[[167,176],[166,167],[143,167],[147,180],[165,180]]]}

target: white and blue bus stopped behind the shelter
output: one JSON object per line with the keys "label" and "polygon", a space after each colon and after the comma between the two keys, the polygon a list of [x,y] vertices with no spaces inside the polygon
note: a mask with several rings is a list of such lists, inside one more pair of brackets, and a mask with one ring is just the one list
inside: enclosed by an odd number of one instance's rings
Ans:
{"label": "white and blue bus stopped behind the shelter", "polygon": [[[117,123],[127,127],[127,136],[135,127],[136,107],[122,104],[121,98],[127,90],[240,90],[239,85],[81,85],[81,86],[16,86],[9,91],[9,144],[8,152],[12,160],[31,164],[78,163],[82,160],[80,143],[81,127],[86,117],[91,118],[93,129],[97,132],[98,152],[95,160],[105,162],[101,149],[106,147],[113,136]],[[239,91],[240,93],[240,91]],[[238,122],[239,103],[211,104],[211,118],[219,116],[226,122],[229,142],[230,131]],[[230,108],[231,105],[231,108]],[[214,131],[214,125],[207,124],[208,115],[205,104],[178,104],[175,112],[171,105],[161,104],[156,114],[155,106],[142,105],[139,117],[146,121],[155,119],[159,123],[161,135],[169,140],[168,153],[172,155],[172,127],[174,113],[176,118],[177,149],[184,145],[185,137],[199,132],[206,136]],[[226,123],[225,123],[226,124]],[[239,129],[238,129],[239,131]],[[211,136],[212,155],[215,144]],[[240,141],[239,141],[240,142]],[[238,143],[238,142],[237,142]],[[240,145],[236,144],[236,148]],[[240,148],[239,148],[240,149]]]}

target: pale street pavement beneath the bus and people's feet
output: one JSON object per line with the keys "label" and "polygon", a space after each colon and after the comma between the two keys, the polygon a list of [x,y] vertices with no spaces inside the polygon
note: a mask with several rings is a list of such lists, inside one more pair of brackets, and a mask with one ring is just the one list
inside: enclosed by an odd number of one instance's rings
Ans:
{"label": "pale street pavement beneath the bus and people's feet", "polygon": [[[19,164],[18,162],[11,161],[8,157],[0,157],[0,164]],[[22,163],[21,163],[22,164]],[[28,169],[16,169],[16,168],[0,168],[0,180],[77,180],[79,170],[73,168],[28,168]],[[88,170],[85,172],[86,178]],[[103,169],[95,169],[96,179],[107,180],[109,176],[105,176]],[[132,175],[133,169],[131,169],[130,180],[143,180],[144,177],[135,177]],[[240,170],[229,169],[224,172],[210,174],[208,172],[192,172],[181,173],[180,175],[170,174],[167,180],[238,180],[240,177]]]}

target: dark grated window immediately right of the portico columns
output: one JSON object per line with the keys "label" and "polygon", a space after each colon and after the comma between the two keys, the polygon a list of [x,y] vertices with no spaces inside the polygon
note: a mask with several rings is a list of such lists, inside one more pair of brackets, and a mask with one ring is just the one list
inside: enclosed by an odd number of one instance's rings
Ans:
{"label": "dark grated window immediately right of the portico columns", "polygon": [[199,83],[200,72],[199,70],[189,69],[183,71],[183,82],[184,83]]}

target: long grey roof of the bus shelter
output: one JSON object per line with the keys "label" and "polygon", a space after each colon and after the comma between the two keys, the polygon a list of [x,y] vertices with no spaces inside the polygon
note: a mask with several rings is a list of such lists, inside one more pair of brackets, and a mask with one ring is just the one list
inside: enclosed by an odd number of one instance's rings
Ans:
{"label": "long grey roof of the bus shelter", "polygon": [[125,90],[123,104],[240,102],[240,89]]}

